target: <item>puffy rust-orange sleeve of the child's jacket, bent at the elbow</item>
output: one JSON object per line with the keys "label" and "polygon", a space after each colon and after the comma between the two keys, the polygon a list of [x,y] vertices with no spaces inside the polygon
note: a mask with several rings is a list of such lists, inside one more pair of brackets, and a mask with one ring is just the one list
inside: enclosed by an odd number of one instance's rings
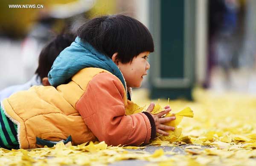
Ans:
{"label": "puffy rust-orange sleeve of the child's jacket, bent at the elbow", "polygon": [[124,95],[124,87],[116,76],[99,73],[87,85],[76,109],[99,141],[113,146],[148,143],[151,138],[148,115],[125,115]]}

